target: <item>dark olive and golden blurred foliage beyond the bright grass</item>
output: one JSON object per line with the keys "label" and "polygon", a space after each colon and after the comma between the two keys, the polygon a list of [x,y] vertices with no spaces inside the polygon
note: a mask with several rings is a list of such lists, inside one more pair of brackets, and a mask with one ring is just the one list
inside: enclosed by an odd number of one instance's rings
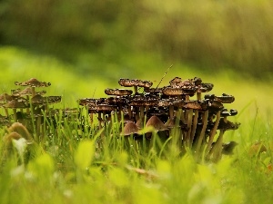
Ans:
{"label": "dark olive and golden blurred foliage beyond the bright grass", "polygon": [[272,14],[271,0],[2,0],[0,42],[54,55],[81,74],[105,64],[142,72],[130,57],[151,55],[262,78],[273,70]]}

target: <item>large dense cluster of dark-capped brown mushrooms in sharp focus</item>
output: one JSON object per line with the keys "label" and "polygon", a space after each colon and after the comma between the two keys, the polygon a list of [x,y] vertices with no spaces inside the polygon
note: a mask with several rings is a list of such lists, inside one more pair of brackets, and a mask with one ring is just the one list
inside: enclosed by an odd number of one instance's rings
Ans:
{"label": "large dense cluster of dark-capped brown mushrooms in sharp focus", "polygon": [[[172,130],[178,130],[181,150],[190,148],[197,157],[205,152],[208,160],[215,161],[228,145],[223,143],[224,132],[238,129],[239,123],[227,120],[238,112],[224,107],[225,103],[234,102],[234,96],[207,94],[214,85],[203,83],[198,77],[188,80],[176,77],[169,85],[157,88],[151,87],[152,82],[136,79],[120,79],[118,83],[126,88],[134,87],[134,92],[108,88],[106,98],[78,100],[79,105],[86,107],[91,122],[94,114],[97,115],[99,128],[113,121],[111,117],[116,112],[118,120],[125,124],[121,136],[150,140],[152,130],[167,140]],[[138,92],[139,87],[142,92]]]}

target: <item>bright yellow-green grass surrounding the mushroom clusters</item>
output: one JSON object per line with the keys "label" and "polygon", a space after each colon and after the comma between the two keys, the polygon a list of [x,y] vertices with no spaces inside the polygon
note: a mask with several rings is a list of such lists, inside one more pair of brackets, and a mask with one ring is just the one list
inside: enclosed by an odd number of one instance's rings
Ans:
{"label": "bright yellow-green grass surrounding the mushroom clusters", "polygon": [[[92,97],[95,88],[99,97],[106,86],[113,87],[99,75],[90,74],[82,80],[66,73],[65,63],[15,48],[2,48],[0,63],[4,67],[1,76],[5,76],[0,82],[3,91],[15,88],[14,81],[36,77],[52,83],[50,94],[65,95],[64,106],[75,105],[80,97]],[[151,64],[142,61],[144,68]],[[137,76],[159,83],[162,73],[150,72]],[[167,73],[162,84],[177,75],[191,78],[196,74],[179,64]],[[239,143],[233,156],[217,164],[197,163],[190,151],[179,157],[168,145],[161,155],[156,149],[139,154],[133,141],[116,140],[118,123],[106,130],[101,147],[97,146],[101,132],[91,129],[79,133],[66,123],[56,127],[56,134],[30,148],[31,159],[25,165],[22,161],[18,164],[16,153],[5,161],[0,168],[1,203],[271,203],[272,152],[253,157],[248,153],[254,141],[263,140],[266,146],[271,141],[270,86],[243,81],[233,73],[197,75],[215,83],[216,93],[224,90],[236,97],[232,107],[238,109],[235,120],[242,125],[238,131],[225,134],[225,141]],[[229,77],[234,81],[230,82]],[[248,98],[247,93],[251,93]],[[0,133],[4,136],[5,129]]]}

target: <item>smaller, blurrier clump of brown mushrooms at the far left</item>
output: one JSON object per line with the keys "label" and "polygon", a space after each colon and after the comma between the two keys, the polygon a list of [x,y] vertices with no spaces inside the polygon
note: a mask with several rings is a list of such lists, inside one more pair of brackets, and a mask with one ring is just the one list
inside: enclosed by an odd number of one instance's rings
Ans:
{"label": "smaller, blurrier clump of brown mushrooms at the far left", "polygon": [[53,118],[56,113],[50,106],[61,102],[62,97],[45,96],[45,91],[37,91],[37,88],[48,87],[51,83],[40,82],[35,78],[23,83],[15,82],[15,85],[25,86],[25,89],[19,88],[11,90],[10,94],[5,92],[0,95],[0,107],[5,110],[5,116],[0,115],[0,126],[10,126],[13,122],[19,121],[36,135],[42,135],[42,131],[45,130],[43,121],[45,118]]}

